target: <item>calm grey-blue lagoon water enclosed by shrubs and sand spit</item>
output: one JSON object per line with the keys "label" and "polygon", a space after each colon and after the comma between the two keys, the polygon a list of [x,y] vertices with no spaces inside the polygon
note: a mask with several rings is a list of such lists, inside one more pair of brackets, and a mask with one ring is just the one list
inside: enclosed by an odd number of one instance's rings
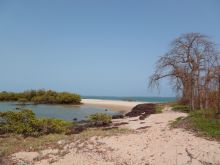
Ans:
{"label": "calm grey-blue lagoon water enclosed by shrubs and sand spit", "polygon": [[[0,112],[16,110],[16,107],[21,107],[16,105],[14,102],[0,102]],[[23,106],[22,106],[23,107]],[[88,106],[62,106],[62,105],[27,105],[24,108],[33,110],[33,112],[38,117],[48,117],[48,118],[59,118],[68,121],[72,121],[74,118],[77,118],[78,121],[86,119],[86,116],[89,116],[94,113],[107,113],[110,115],[118,114],[111,110],[105,111],[103,108],[94,108]]]}

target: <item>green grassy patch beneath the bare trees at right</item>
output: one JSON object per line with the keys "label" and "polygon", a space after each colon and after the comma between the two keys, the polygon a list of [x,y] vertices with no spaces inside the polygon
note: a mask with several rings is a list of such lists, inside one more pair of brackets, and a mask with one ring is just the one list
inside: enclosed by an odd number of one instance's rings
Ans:
{"label": "green grassy patch beneath the bare trees at right", "polygon": [[203,136],[220,140],[220,118],[210,110],[197,110],[189,113],[186,118],[177,118],[173,127],[184,127],[197,131]]}

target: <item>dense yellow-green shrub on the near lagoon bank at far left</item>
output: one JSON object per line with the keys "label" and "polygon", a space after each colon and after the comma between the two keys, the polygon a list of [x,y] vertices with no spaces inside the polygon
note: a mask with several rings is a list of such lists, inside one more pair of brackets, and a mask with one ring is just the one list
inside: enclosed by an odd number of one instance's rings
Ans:
{"label": "dense yellow-green shrub on the near lagoon bank at far left", "polygon": [[0,112],[0,134],[40,136],[50,133],[67,133],[70,125],[70,122],[59,119],[37,118],[31,110]]}

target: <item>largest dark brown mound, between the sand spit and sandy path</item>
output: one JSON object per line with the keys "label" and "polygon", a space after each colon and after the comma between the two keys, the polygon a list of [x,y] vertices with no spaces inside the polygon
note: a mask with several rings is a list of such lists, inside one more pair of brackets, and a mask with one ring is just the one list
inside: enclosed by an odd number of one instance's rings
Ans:
{"label": "largest dark brown mound, between the sand spit and sandy path", "polygon": [[138,104],[135,106],[131,112],[125,114],[128,117],[140,117],[142,120],[145,119],[148,115],[156,113],[156,104]]}

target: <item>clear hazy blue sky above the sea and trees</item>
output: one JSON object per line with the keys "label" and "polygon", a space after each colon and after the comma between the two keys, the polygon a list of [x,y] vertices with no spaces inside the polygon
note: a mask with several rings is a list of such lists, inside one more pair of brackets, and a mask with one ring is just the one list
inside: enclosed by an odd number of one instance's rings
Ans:
{"label": "clear hazy blue sky above the sea and trees", "polygon": [[148,89],[170,42],[208,35],[220,50],[219,0],[1,0],[0,91],[175,96]]}

